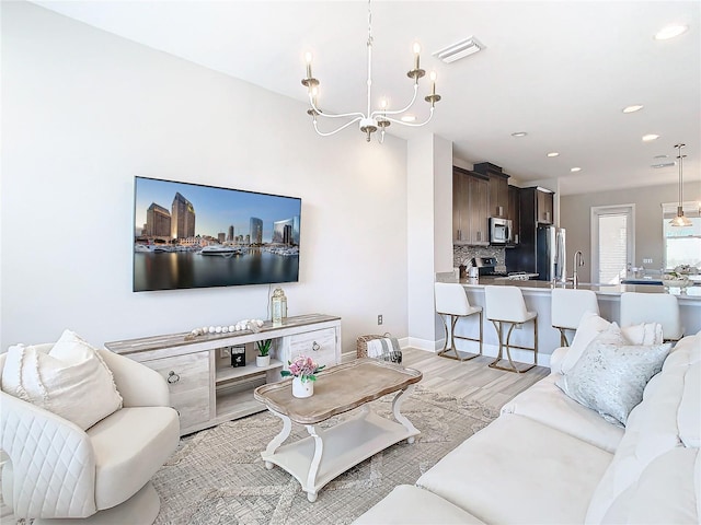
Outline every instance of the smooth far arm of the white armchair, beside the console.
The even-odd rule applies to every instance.
[[[154,370],[106,349],[97,349],[112,371],[125,407],[169,407],[168,382]]]

